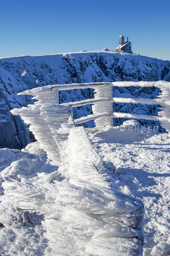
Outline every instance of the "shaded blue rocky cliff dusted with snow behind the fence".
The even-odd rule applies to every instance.
[[[32,103],[29,96],[18,92],[48,84],[70,84],[113,81],[170,81],[170,61],[117,52],[85,52],[48,56],[24,56],[0,59],[0,147],[24,148],[30,133],[19,116],[10,109]],[[154,98],[154,88],[114,88],[114,97]],[[60,92],[61,102],[92,98],[91,89]],[[90,105],[73,109],[74,117],[90,114]],[[156,106],[142,104],[114,104],[114,111],[155,115]],[[124,120],[115,119],[115,124]],[[143,122],[143,121],[142,121]],[[150,122],[150,121],[147,121]],[[90,121],[86,126],[92,126]]]

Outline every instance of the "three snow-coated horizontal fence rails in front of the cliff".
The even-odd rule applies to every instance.
[[[93,88],[95,90],[94,99],[87,99],[69,103],[62,103],[61,105],[69,105],[70,107],[80,107],[87,104],[93,104],[92,107],[93,114],[85,117],[80,117],[75,119],[75,124],[82,124],[90,120],[98,119],[98,122],[95,122],[96,125],[112,125],[112,118],[137,118],[137,119],[146,119],[146,120],[155,120],[160,121],[162,126],[169,131],[170,119],[165,115],[163,111],[159,112],[159,116],[150,116],[150,115],[139,115],[132,113],[119,113],[114,112],[113,108],[110,106],[113,102],[120,103],[133,103],[133,104],[159,104],[163,105],[164,108],[169,108],[168,102],[164,97],[159,96],[156,99],[145,99],[145,98],[116,98],[113,97],[112,86],[142,86],[142,87],[158,87],[162,92],[165,92],[170,88],[170,83],[165,81],[158,82],[113,82],[113,83],[88,83],[88,84],[69,84],[69,85],[56,85],[52,86],[50,90],[70,90],[70,89],[84,89],[84,88]],[[108,90],[110,88],[110,90]],[[105,91],[106,90],[106,91]],[[169,90],[167,90],[169,92]],[[161,94],[162,95],[162,94]],[[100,98],[100,96],[103,96]],[[109,112],[107,111],[109,108]],[[170,109],[170,108],[169,108]],[[100,122],[100,119],[106,119],[106,122]],[[166,126],[166,127],[165,127]]]

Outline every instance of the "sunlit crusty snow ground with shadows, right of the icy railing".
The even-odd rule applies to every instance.
[[[169,184],[170,138],[152,132],[86,129],[93,146],[115,165],[114,179],[124,193],[141,198],[145,206],[143,256],[170,255]],[[125,186],[125,187],[124,187]]]

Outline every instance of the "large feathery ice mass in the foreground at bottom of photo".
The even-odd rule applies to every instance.
[[[50,255],[142,255],[143,206],[131,196],[78,178],[3,187],[16,207],[45,216]]]

